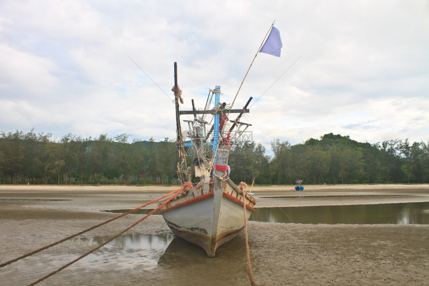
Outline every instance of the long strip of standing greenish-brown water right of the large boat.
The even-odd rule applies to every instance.
[[[251,221],[301,224],[429,224],[429,202],[256,208]]]

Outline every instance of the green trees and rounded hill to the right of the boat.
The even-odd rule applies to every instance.
[[[294,184],[296,179],[305,184],[429,181],[429,142],[411,144],[408,139],[396,139],[370,144],[329,133],[293,146],[275,139],[271,141],[272,156],[265,155],[260,144],[243,143],[241,148],[252,151],[231,155],[230,177],[235,181],[248,182],[250,176],[257,184]],[[233,168],[238,172],[232,172]]]

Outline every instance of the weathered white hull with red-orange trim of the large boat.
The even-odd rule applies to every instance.
[[[244,228],[254,212],[255,199],[246,194],[244,217],[243,195],[229,179],[223,188],[213,190],[213,182],[190,187],[176,196],[160,213],[179,237],[202,247],[209,257]]]

